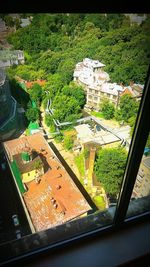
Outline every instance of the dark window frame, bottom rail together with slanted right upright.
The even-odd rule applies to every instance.
[[[41,245],[40,247],[35,246],[35,248],[28,252],[25,252],[24,254],[21,254],[19,256],[12,255],[8,260],[5,260],[4,262],[0,262],[0,265],[8,264],[9,262],[15,262],[17,263],[20,259],[33,257],[35,255],[43,254],[46,251],[51,251],[54,248],[60,248],[65,245],[69,245],[70,243],[75,243],[76,241],[81,241],[84,238],[90,237],[92,238],[95,235],[105,235],[106,232],[114,232],[118,230],[120,227],[124,227],[124,225],[129,224],[130,222],[137,221],[137,220],[143,220],[145,217],[150,217],[150,211],[144,212],[141,215],[133,216],[128,219],[126,219],[126,213],[129,206],[129,202],[132,195],[132,190],[134,187],[134,183],[137,177],[139,165],[141,162],[141,158],[143,155],[143,151],[145,148],[145,144],[147,141],[147,137],[149,135],[149,107],[150,107],[150,68],[148,69],[148,75],[145,82],[144,90],[142,99],[140,102],[139,111],[137,114],[137,119],[134,127],[134,132],[132,136],[132,141],[128,153],[127,158],[127,165],[124,173],[124,178],[122,182],[122,187],[120,190],[116,210],[115,210],[115,216],[113,218],[112,224],[98,227],[94,230],[88,230],[87,232],[83,233],[76,233],[74,236],[67,237],[66,239],[59,240],[58,242],[52,242],[51,244],[47,243],[47,245]],[[95,216],[95,215],[93,215]],[[81,219],[83,220],[83,219]],[[58,226],[59,229],[61,229],[61,226]],[[55,229],[53,230],[55,231]],[[43,231],[44,233],[44,231]],[[23,240],[30,240],[32,236],[36,234],[33,234],[31,236],[25,236],[24,238],[20,240],[15,240],[14,242],[16,244],[23,244]],[[38,236],[38,234],[37,234]],[[40,234],[39,234],[40,236]],[[46,240],[47,241],[47,240]],[[8,249],[11,248],[11,245],[13,242],[8,243]],[[41,243],[42,244],[42,243]],[[4,251],[4,249],[7,247],[7,244],[3,244],[0,246],[0,252]]]

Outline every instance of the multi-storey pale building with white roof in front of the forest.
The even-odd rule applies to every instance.
[[[102,99],[107,98],[118,105],[120,93],[124,88],[116,83],[109,83],[109,74],[103,70],[105,65],[98,60],[85,58],[79,62],[74,71],[74,81],[81,84],[86,91],[86,108],[99,110]]]

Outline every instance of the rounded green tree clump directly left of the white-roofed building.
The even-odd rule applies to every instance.
[[[55,75],[55,74],[54,74]],[[53,76],[54,76],[53,75]],[[81,117],[81,109],[85,104],[85,93],[80,86],[73,82],[70,85],[65,85],[63,88],[61,82],[56,83],[56,87],[48,83],[44,88],[46,97],[44,99],[44,106],[47,105],[47,100],[51,99],[51,108],[53,109],[53,118],[60,122],[73,122]],[[47,115],[49,117],[50,115]],[[52,123],[51,119],[46,119],[48,124]]]

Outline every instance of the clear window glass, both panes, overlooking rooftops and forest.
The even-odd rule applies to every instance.
[[[112,225],[149,23],[148,14],[0,14],[0,261]],[[145,151],[133,201],[149,194]]]

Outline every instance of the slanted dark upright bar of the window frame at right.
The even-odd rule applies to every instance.
[[[127,158],[127,165],[122,181],[122,187],[117,201],[116,213],[113,221],[115,225],[122,224],[126,220],[126,214],[130,203],[132,191],[134,188],[144,148],[150,131],[149,107],[150,67],[148,69],[143,95],[136,118],[132,141]]]

